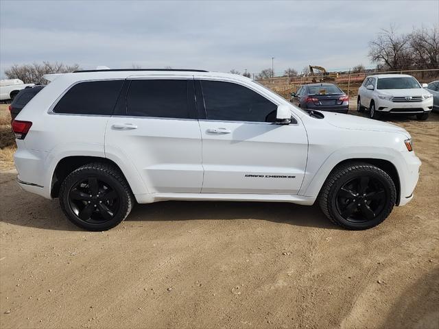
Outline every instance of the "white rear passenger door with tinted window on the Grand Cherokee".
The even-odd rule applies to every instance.
[[[133,78],[125,89],[106,127],[106,154],[132,162],[149,193],[200,193],[193,77]]]

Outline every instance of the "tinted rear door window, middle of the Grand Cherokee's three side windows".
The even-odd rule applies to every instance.
[[[187,80],[132,80],[127,114],[137,117],[188,119]]]

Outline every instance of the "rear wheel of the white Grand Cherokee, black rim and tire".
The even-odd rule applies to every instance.
[[[89,231],[114,228],[134,205],[134,196],[121,172],[100,162],[84,164],[71,172],[60,186],[59,198],[67,218]]]

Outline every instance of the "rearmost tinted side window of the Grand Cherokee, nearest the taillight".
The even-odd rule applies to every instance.
[[[55,113],[111,115],[123,80],[80,82],[58,101]]]

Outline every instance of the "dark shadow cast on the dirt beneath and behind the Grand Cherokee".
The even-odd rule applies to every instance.
[[[21,191],[15,172],[0,172],[0,222],[44,230],[79,231],[64,217],[58,199],[48,200]],[[280,202],[167,201],[136,204],[126,221],[257,219],[292,226],[340,229],[323,215],[318,206]]]

